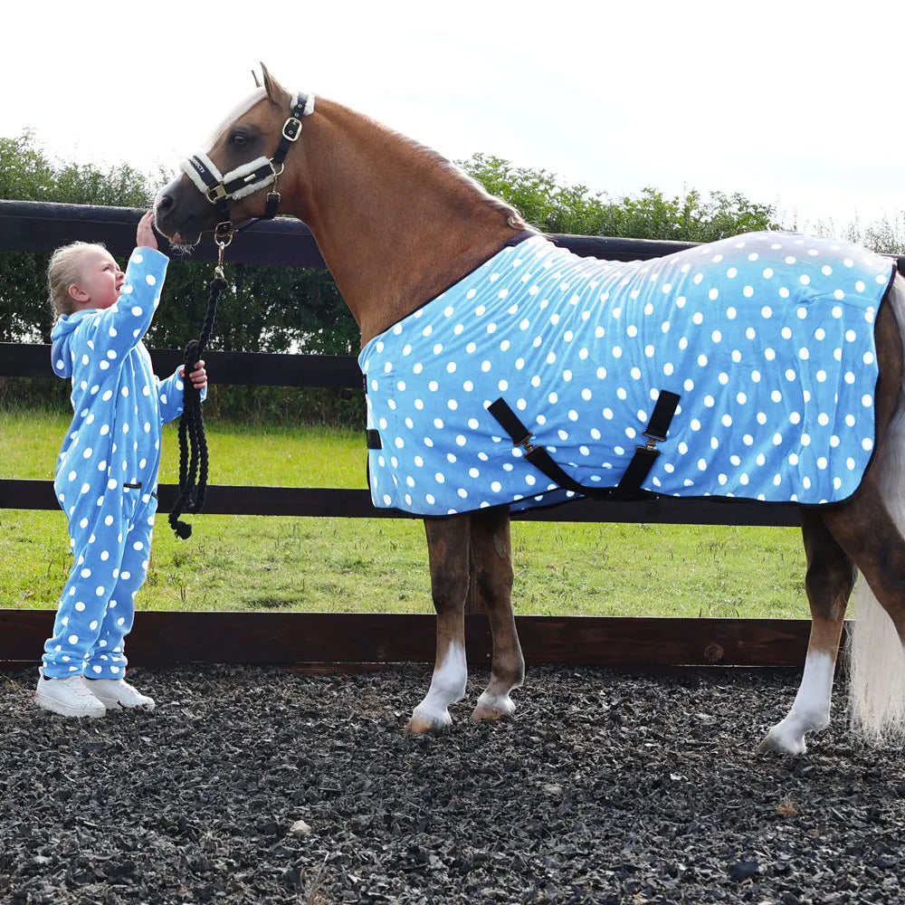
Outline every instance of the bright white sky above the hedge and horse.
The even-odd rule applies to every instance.
[[[7,5],[0,136],[175,169],[263,60],[462,159],[612,196],[740,192],[786,225],[905,212],[900,4],[446,0]]]

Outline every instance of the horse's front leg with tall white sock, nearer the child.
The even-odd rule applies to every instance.
[[[465,598],[469,586],[471,519],[424,519],[437,611],[437,655],[430,690],[405,726],[412,735],[439,732],[452,722],[449,705],[465,696]]]

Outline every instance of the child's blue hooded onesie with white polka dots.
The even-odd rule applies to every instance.
[[[75,563],[44,645],[49,679],[121,679],[126,670],[123,639],[148,571],[157,510],[160,427],[182,412],[181,379],[159,381],[141,341],[167,262],[137,248],[116,304],[63,315],[52,330],[53,371],[72,380],[75,414],[53,488]]]

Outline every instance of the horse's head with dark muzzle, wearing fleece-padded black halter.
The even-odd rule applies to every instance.
[[[194,245],[218,224],[276,213],[277,181],[283,167],[292,165],[284,158],[300,137],[301,117],[314,109],[314,98],[293,96],[263,64],[262,71],[263,85],[214,129],[207,150],[183,160],[182,174],[158,193],[157,229],[174,244]],[[299,154],[296,149],[291,157]],[[270,192],[261,191],[267,186]]]

